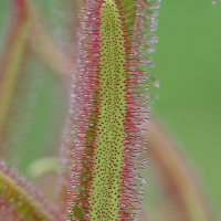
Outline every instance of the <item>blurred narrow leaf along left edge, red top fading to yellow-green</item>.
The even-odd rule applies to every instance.
[[[29,31],[25,0],[14,0],[13,3],[13,24],[0,70],[0,137],[4,133],[6,120],[11,110]]]

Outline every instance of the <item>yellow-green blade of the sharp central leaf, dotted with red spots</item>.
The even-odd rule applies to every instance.
[[[101,9],[101,101],[99,116],[93,156],[91,183],[91,219],[115,220],[119,218],[122,167],[124,159],[126,85],[125,49],[122,22],[113,0],[107,0]]]

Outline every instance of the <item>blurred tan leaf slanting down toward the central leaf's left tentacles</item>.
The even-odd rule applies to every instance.
[[[43,23],[36,8],[31,2],[28,6],[31,23],[28,38],[31,49],[50,65],[53,73],[57,74],[62,81],[70,81],[71,77],[66,73],[76,69],[76,59],[73,59],[66,52],[64,53],[62,46],[49,33],[48,27]]]

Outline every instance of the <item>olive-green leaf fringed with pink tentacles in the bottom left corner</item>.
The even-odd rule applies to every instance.
[[[60,221],[63,219],[55,204],[3,160],[0,160],[0,198],[8,201],[8,204],[13,207],[17,214],[24,221]],[[11,215],[13,217],[13,213]]]

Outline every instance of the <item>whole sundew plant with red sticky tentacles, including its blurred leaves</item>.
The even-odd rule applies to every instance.
[[[155,120],[149,120],[150,104],[158,97],[155,88],[159,87],[149,71],[155,65],[149,53],[158,41],[154,31],[160,2],[70,2],[74,34],[65,50],[46,31],[32,1],[11,1],[13,18],[0,72],[0,220],[150,220],[143,208],[143,196],[151,178],[141,172],[149,155],[167,175],[167,191],[176,193],[179,220],[211,220],[187,162]],[[53,197],[27,181],[8,162],[8,148],[15,148],[11,141],[17,137],[14,124],[29,127],[30,106],[34,106],[33,85],[38,87],[38,81],[29,78],[23,70],[28,52],[42,57],[65,85],[69,97]],[[167,158],[159,137],[164,138]],[[147,139],[152,146],[149,155]],[[176,169],[170,167],[171,161],[177,164]],[[41,162],[36,170],[56,170],[54,162]],[[179,186],[176,177],[185,186]],[[50,187],[50,182],[44,186]]]

